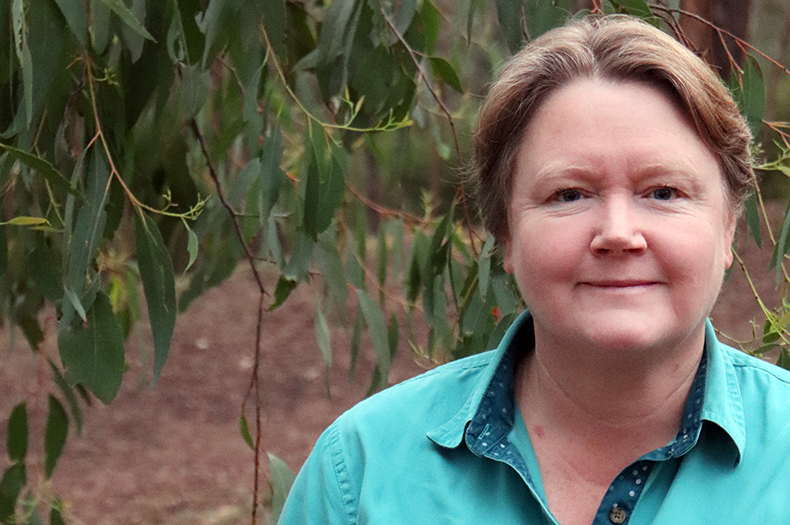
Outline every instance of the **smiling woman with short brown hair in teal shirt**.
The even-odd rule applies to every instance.
[[[527,46],[475,161],[529,312],[497,350],[341,416],[281,523],[790,523],[790,374],[707,321],[749,141],[705,64],[647,24]]]

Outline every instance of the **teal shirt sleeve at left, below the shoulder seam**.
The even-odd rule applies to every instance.
[[[340,445],[340,429],[336,421],[318,439],[296,476],[278,525],[356,523],[356,498],[350,490],[350,465]]]

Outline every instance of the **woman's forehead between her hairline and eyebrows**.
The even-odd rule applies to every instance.
[[[584,79],[549,95],[527,125],[517,174],[562,167],[715,172],[718,159],[664,90],[642,82]]]

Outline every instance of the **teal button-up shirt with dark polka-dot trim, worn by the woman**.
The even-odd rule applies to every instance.
[[[595,524],[790,523],[790,373],[718,342],[678,434],[613,480]],[[333,423],[294,482],[280,525],[556,524],[513,400],[533,346],[522,315],[499,348],[440,366]]]

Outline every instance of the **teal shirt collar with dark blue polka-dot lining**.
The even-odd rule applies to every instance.
[[[514,421],[514,367],[517,358],[534,347],[532,316],[524,312],[508,329],[477,386],[461,410],[428,438],[445,448],[464,441],[469,449],[484,455],[507,438]],[[732,465],[743,456],[746,443],[743,403],[732,361],[716,339],[710,321],[705,327],[707,370],[704,378],[702,420],[714,423],[724,432],[725,449],[731,452]],[[716,439],[711,437],[711,439]]]

